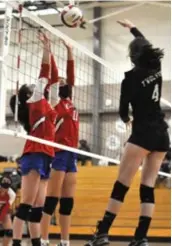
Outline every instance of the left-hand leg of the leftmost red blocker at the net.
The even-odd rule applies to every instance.
[[[34,204],[39,189],[40,175],[31,170],[22,177],[21,203],[13,222],[13,246],[20,246],[24,221],[28,219],[29,210]]]

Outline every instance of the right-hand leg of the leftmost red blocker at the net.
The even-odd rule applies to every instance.
[[[47,193],[47,180],[41,180],[36,200],[34,201],[33,207],[29,213],[29,232],[33,246],[39,246],[41,244],[41,228],[40,222],[42,218],[42,210],[45,203],[45,197]]]

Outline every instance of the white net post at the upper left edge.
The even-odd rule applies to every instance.
[[[8,55],[12,22],[12,7],[6,4],[4,31],[0,35],[0,128],[6,124],[6,94],[7,94],[7,66],[5,58]]]

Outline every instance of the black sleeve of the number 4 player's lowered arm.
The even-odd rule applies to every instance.
[[[127,123],[130,118],[129,113],[129,103],[130,103],[130,90],[129,82],[124,79],[121,85],[121,94],[120,94],[120,105],[119,105],[119,115],[123,122]]]

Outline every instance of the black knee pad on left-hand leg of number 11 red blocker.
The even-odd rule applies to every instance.
[[[53,215],[56,209],[56,206],[58,204],[58,200],[59,199],[57,197],[47,196],[45,199],[43,212],[49,215]]]

